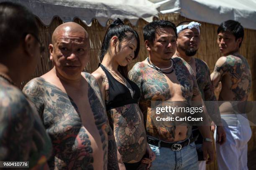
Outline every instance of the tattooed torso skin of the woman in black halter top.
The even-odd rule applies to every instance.
[[[109,100],[109,84],[105,73],[102,73],[102,82],[105,83],[105,103]],[[131,95],[133,90],[125,80]],[[137,103],[123,105],[107,111],[110,126],[115,135],[115,142],[124,163],[141,161],[146,154],[147,139],[143,126],[143,115]]]

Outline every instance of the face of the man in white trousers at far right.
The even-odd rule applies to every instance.
[[[219,45],[220,52],[224,56],[238,52],[239,44],[241,42],[242,42],[241,37],[236,40],[236,37],[230,32],[220,32],[218,34],[217,43]]]

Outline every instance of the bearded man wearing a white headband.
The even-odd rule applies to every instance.
[[[210,70],[207,64],[198,58],[193,57],[200,45],[200,23],[184,21],[177,26],[177,49],[175,57],[182,57],[193,69],[194,75],[197,80],[197,85],[202,95],[202,99],[205,101],[216,101],[214,90],[210,78]],[[207,105],[207,112],[212,120],[217,125],[218,142],[223,144],[225,142],[225,131],[221,125],[220,111],[217,102],[212,102]],[[213,128],[214,127],[214,128]],[[215,126],[212,126],[214,132]],[[198,128],[193,126],[193,137],[197,138],[195,141],[199,170],[205,170],[206,161],[202,158],[202,143],[203,138]]]

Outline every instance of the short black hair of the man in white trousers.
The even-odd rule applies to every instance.
[[[218,32],[218,34],[220,32],[230,32],[231,34],[233,34],[236,37],[236,40],[238,38],[242,38],[242,41],[243,41],[243,36],[244,36],[243,26],[241,25],[241,23],[238,23],[237,21],[227,20],[227,21],[221,23],[217,32]],[[241,47],[242,41],[239,44],[239,47]]]

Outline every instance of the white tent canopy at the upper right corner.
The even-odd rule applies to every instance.
[[[219,25],[236,20],[244,28],[256,30],[256,0],[150,0],[161,5],[161,13],[180,13],[182,16]]]

